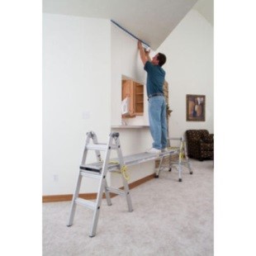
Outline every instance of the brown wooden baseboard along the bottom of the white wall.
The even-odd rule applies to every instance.
[[[129,188],[132,189],[134,187],[138,187],[143,183],[148,182],[149,180],[153,179],[155,176],[154,174],[150,174],[149,176],[146,176],[145,178],[140,178],[139,180],[135,181],[134,183],[129,184]],[[123,187],[120,187],[121,189]],[[111,197],[116,197],[116,194],[110,193]],[[53,195],[53,196],[43,196],[43,202],[55,202],[55,201],[71,201],[73,195],[67,194],[67,195]],[[79,197],[82,197],[83,199],[92,200],[96,199],[97,193],[83,193],[79,194]],[[103,198],[105,198],[105,195],[103,195]]]

